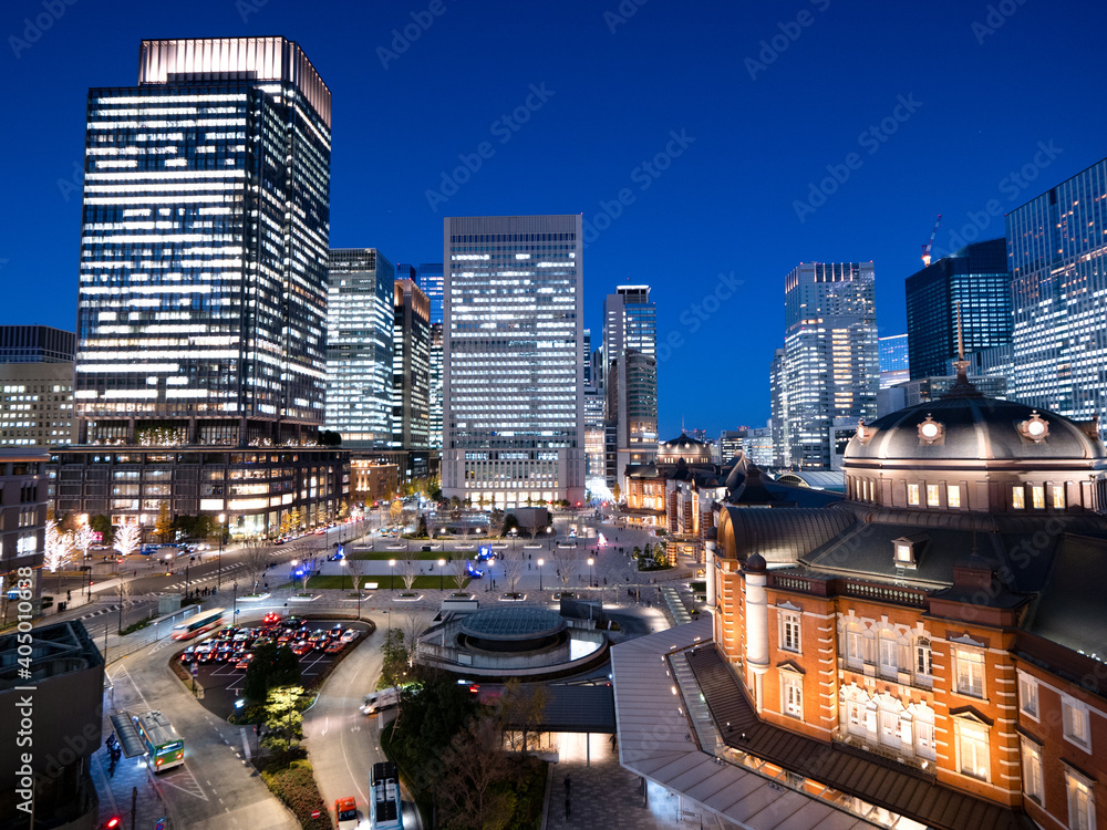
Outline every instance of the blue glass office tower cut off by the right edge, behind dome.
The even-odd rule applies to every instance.
[[[1008,395],[1072,418],[1107,409],[1107,159],[1007,214]]]

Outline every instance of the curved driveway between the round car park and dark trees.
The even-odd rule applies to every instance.
[[[334,801],[352,796],[369,827],[369,775],[373,764],[385,760],[380,732],[385,718],[394,713],[365,717],[358,710],[362,697],[376,686],[383,662],[381,643],[385,619],[375,621],[377,630],[368,640],[358,641],[354,651],[334,670],[315,704],[304,713],[303,734],[315,781],[323,800],[333,810]],[[260,827],[260,826],[259,826]],[[404,827],[422,827],[418,811],[410,799],[404,801]]]

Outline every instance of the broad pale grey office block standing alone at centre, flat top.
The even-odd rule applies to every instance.
[[[447,217],[446,497],[584,498],[581,217]]]

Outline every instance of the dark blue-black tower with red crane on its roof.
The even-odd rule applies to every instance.
[[[958,309],[965,352],[1011,342],[1011,273],[1004,239],[969,245],[907,278],[911,380],[945,374],[958,356]]]

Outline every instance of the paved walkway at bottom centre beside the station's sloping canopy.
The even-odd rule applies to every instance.
[[[696,806],[682,801],[663,787],[648,784],[643,799],[641,779],[619,766],[611,738],[593,735],[591,740],[591,764],[583,757],[583,739],[579,751],[565,751],[563,760],[554,767],[550,784],[547,830],[578,830],[579,828],[602,827],[604,830],[670,830],[681,828],[711,828],[711,830],[737,830],[735,824],[721,820],[714,813],[701,816]],[[566,817],[565,777],[571,778],[570,809]],[[645,801],[649,803],[646,805]],[[689,812],[683,820],[681,809]]]

